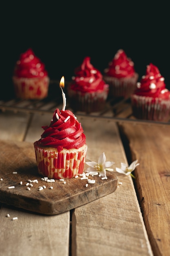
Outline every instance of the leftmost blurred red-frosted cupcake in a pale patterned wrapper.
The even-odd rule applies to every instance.
[[[35,56],[32,49],[20,55],[12,79],[17,98],[44,99],[48,96],[48,73],[44,63]]]

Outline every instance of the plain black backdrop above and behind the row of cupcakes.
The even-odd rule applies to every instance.
[[[165,4],[149,1],[11,2],[1,6],[2,83],[11,90],[13,67],[29,47],[51,79],[71,80],[85,56],[102,73],[118,49],[135,63],[139,79],[153,63],[170,88],[170,19]],[[3,93],[2,95],[5,95]]]

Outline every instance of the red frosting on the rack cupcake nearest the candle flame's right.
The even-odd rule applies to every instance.
[[[102,74],[90,63],[91,58],[85,57],[82,65],[75,69],[75,76],[72,77],[71,89],[82,93],[104,90],[105,82]]]

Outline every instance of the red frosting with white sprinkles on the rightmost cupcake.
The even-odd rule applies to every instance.
[[[159,69],[150,63],[150,65],[147,65],[145,76],[142,76],[141,81],[137,83],[137,89],[134,94],[166,99],[170,97],[170,92],[166,89],[164,80]]]

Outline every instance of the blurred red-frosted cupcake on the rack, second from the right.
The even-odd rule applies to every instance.
[[[126,56],[124,50],[119,49],[104,70],[103,79],[109,85],[109,97],[129,98],[136,89],[138,77],[132,60]]]

